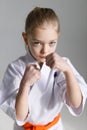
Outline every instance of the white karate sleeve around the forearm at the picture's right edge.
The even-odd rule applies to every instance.
[[[83,96],[83,101],[82,101],[82,104],[80,105],[79,108],[72,108],[68,104],[66,104],[69,111],[74,116],[77,116],[77,115],[80,115],[84,110],[84,106],[85,106],[85,102],[86,102],[86,98],[87,98],[87,84],[86,84],[85,80],[83,79],[83,77],[77,72],[77,70],[71,64],[69,59],[67,60],[67,62],[71,66],[71,68],[72,68],[72,70],[73,70],[73,72],[74,72],[74,74],[76,76],[76,79],[77,79],[77,81],[79,83],[79,86],[80,86],[80,89],[81,89],[81,92],[82,92],[82,96]]]

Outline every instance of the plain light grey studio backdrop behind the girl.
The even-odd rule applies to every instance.
[[[7,65],[25,54],[21,33],[35,6],[56,11],[61,23],[57,52],[70,58],[87,81],[87,0],[0,0],[0,82]],[[80,117],[73,117],[65,107],[61,114],[65,130],[87,130],[87,104]],[[5,129],[20,130],[0,110],[0,130]]]

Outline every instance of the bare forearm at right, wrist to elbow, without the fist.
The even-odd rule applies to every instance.
[[[80,86],[74,76],[72,70],[65,72],[66,84],[67,84],[67,98],[73,107],[79,107],[82,102],[82,94]]]

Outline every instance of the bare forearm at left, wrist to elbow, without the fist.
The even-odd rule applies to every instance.
[[[28,94],[29,94],[29,87],[24,86],[20,87],[18,95],[16,97],[16,103],[15,103],[16,118],[20,121],[25,120],[25,118],[29,113]]]

